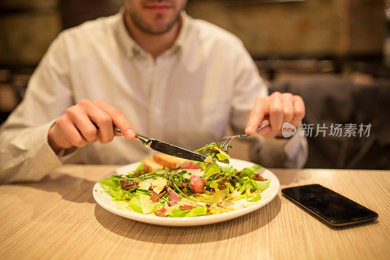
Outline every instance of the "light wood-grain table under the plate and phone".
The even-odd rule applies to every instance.
[[[278,196],[240,218],[195,227],[140,223],[101,208],[92,188],[117,166],[65,165],[0,186],[0,259],[390,259],[390,172],[273,169],[281,188],[320,183],[379,214],[332,229]]]

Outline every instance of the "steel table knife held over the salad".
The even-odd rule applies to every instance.
[[[114,131],[118,134],[122,134],[117,127],[115,127]],[[166,142],[159,141],[159,140],[156,140],[153,138],[149,138],[149,137],[143,136],[141,134],[138,134],[137,132],[135,132],[135,133],[136,133],[136,138],[138,140],[140,140],[146,147],[152,148],[153,150],[155,150],[157,152],[167,154],[167,155],[172,155],[172,156],[182,158],[182,159],[195,160],[195,161],[201,161],[201,162],[204,162],[204,160],[206,160],[206,158],[207,158],[204,155],[194,153],[190,150],[172,145],[170,143],[166,143]],[[214,159],[211,159],[211,160],[212,160],[212,162],[215,162]]]

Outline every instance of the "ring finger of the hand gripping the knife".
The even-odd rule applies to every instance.
[[[84,109],[80,106],[71,106],[66,110],[66,113],[88,143],[97,140],[98,130],[93,125]]]

